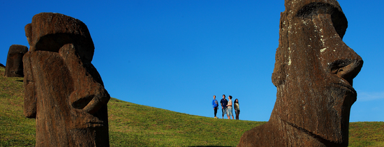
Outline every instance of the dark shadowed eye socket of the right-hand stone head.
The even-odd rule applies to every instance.
[[[334,29],[342,39],[346,33],[348,21],[341,8],[332,6],[330,3],[309,3],[297,11],[296,17],[301,17],[302,19],[312,19],[314,16],[319,14],[331,15]]]

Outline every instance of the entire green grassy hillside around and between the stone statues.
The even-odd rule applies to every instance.
[[[0,146],[34,146],[35,120],[22,114],[22,78],[0,68]],[[112,98],[111,146],[236,146],[241,135],[265,122],[182,114]],[[383,122],[350,123],[350,146],[384,146]]]

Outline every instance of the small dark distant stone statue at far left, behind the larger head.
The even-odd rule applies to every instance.
[[[24,77],[22,68],[22,56],[28,52],[28,47],[24,45],[10,45],[7,56],[6,77]]]

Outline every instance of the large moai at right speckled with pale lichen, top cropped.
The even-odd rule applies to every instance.
[[[348,146],[353,78],[362,59],[341,39],[347,28],[335,0],[286,0],[272,83],[269,121],[238,146]]]

